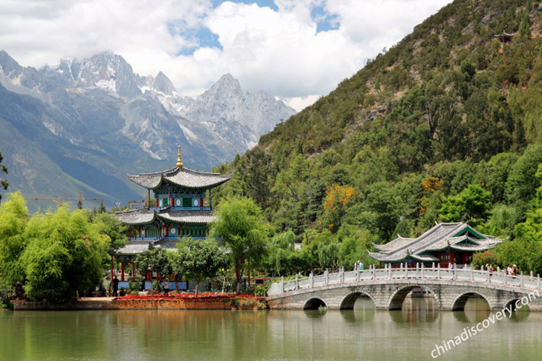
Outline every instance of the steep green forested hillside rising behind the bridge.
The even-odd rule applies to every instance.
[[[435,221],[510,237],[495,263],[540,255],[541,18],[531,1],[454,1],[218,169],[235,173],[217,196],[263,207],[278,234],[268,262],[283,274],[351,268],[371,243]],[[513,262],[542,270],[535,258]]]

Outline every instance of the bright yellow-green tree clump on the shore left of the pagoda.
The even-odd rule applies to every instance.
[[[30,216],[20,192],[8,194],[0,205],[0,279],[22,283],[31,300],[61,302],[94,290],[112,247],[108,221],[67,205]]]

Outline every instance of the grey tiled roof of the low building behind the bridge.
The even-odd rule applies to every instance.
[[[380,252],[369,252],[378,261],[402,261],[406,257],[421,261],[433,261],[436,257],[424,252],[445,250],[448,247],[463,251],[483,251],[495,247],[502,240],[477,232],[466,223],[441,223],[418,238],[399,236],[385,245],[374,245]]]

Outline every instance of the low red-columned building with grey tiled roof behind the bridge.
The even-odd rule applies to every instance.
[[[371,258],[383,264],[391,264],[391,267],[399,267],[400,264],[408,264],[414,267],[416,263],[430,267],[448,268],[450,264],[456,264],[462,268],[469,265],[474,252],[489,250],[502,240],[490,235],[484,235],[469,224],[441,223],[423,233],[418,238],[398,238],[385,245],[374,245],[380,252],[369,252]]]

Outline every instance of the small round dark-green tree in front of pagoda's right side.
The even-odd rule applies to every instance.
[[[217,276],[219,269],[226,264],[226,255],[212,238],[184,238],[176,246],[179,257],[176,258],[174,271],[181,272],[186,279],[195,279],[194,295],[197,297],[198,283]]]

